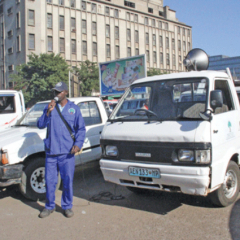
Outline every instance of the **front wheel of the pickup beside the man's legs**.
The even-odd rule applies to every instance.
[[[61,177],[59,174],[56,190],[59,189],[60,183]],[[20,191],[24,197],[33,201],[45,199],[45,158],[35,158],[24,167]]]

